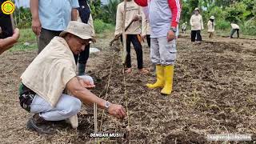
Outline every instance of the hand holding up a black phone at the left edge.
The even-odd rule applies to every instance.
[[[18,42],[19,30],[16,28],[12,37],[0,39],[0,54],[10,49],[14,43]]]

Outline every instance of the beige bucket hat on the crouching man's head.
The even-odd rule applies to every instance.
[[[91,30],[90,25],[82,22],[71,21],[67,26],[66,30],[62,31],[59,36],[64,36],[65,34],[70,33],[82,39],[91,39],[93,31]]]

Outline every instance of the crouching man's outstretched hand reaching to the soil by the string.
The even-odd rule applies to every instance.
[[[108,113],[118,119],[126,117],[126,110],[121,105],[111,104],[108,108]]]

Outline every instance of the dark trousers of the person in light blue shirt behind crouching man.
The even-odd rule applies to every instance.
[[[51,39],[61,34],[61,32],[42,28],[38,39],[38,54],[50,43]]]

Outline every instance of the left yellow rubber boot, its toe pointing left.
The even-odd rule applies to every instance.
[[[146,84],[146,86],[150,89],[154,89],[154,88],[162,88],[165,85],[165,81],[164,81],[164,70],[163,70],[164,66],[161,65],[157,65],[156,66],[156,75],[157,75],[157,82],[155,82],[154,84]]]

